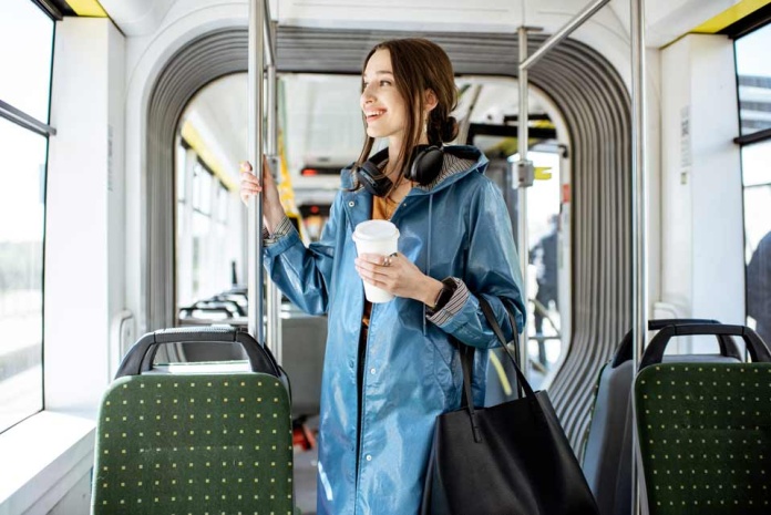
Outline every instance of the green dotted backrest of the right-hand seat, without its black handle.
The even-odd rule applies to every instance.
[[[650,515],[771,513],[771,363],[661,363],[635,380]]]

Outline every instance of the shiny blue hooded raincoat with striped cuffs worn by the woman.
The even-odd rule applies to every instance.
[[[498,187],[483,173],[487,158],[471,146],[445,147],[442,174],[414,187],[391,217],[399,251],[424,274],[464,281],[471,291],[460,311],[436,326],[417,300],[372,307],[364,354],[362,413],[357,406],[359,334],[364,308],[351,235],[370,219],[372,196],[342,171],[341,190],[321,238],[306,248],[294,229],[266,247],[265,264],[300,309],[328,313],[321,387],[318,513],[418,513],[436,415],[461,403],[462,373],[449,334],[483,349],[475,353],[473,396],[482,405],[487,349],[497,340],[480,309],[490,301],[511,334],[502,300],[522,327],[518,258]],[[360,419],[359,419],[360,416]],[[358,446],[358,452],[357,452]],[[357,461],[357,456],[359,460]],[[483,473],[480,471],[480,473]]]

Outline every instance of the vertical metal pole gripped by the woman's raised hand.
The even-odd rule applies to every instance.
[[[264,30],[266,0],[249,0],[249,54],[248,68],[248,128],[249,162],[255,174],[263,183],[263,78],[264,70]],[[255,195],[249,200],[247,224],[248,251],[248,319],[249,333],[257,341],[265,342],[263,315],[263,196]]]

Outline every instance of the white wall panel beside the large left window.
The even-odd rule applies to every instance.
[[[45,243],[45,406],[93,411],[123,309],[123,37],[106,19],[56,28]]]

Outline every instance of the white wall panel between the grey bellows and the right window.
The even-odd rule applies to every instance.
[[[741,168],[732,42],[690,34],[662,52],[661,301],[743,323]]]

